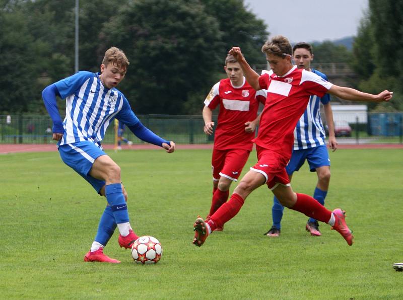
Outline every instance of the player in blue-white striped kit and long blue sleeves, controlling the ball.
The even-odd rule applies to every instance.
[[[54,140],[62,161],[104,195],[107,206],[98,231],[84,261],[119,263],[103,253],[116,226],[118,244],[131,248],[138,236],[133,232],[127,212],[127,193],[121,184],[120,167],[103,151],[101,141],[113,119],[123,121],[140,139],[159,145],[172,153],[175,143],[162,139],[146,128],[124,95],[116,89],[123,80],[129,61],[122,50],[111,47],[105,52],[98,73],[79,71],[46,87],[42,98],[53,121]],[[56,96],[66,98],[66,117],[61,121]]]

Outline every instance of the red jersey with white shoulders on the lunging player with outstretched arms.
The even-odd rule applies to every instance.
[[[313,72],[294,66],[282,77],[273,72],[262,74],[259,85],[267,89],[267,99],[260,116],[258,134],[253,141],[289,160],[294,144],[294,128],[310,96],[322,97],[332,84]]]

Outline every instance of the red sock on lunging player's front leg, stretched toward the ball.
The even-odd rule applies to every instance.
[[[221,205],[221,207],[210,217],[208,223],[211,231],[213,232],[217,226],[223,227],[226,222],[238,213],[244,202],[245,200],[243,200],[241,196],[236,193],[232,194],[230,200]]]

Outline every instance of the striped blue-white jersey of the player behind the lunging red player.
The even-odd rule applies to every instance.
[[[311,70],[327,81],[325,74],[313,68]],[[327,104],[329,101],[329,94],[325,94],[322,98],[311,96],[304,114],[294,129],[294,150],[313,148],[326,144],[326,135],[320,118],[320,102]]]

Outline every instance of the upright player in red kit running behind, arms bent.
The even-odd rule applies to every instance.
[[[229,188],[237,181],[252,151],[255,129],[259,123],[259,102],[264,104],[266,90],[255,91],[243,76],[234,56],[225,59],[228,78],[220,80],[211,89],[203,108],[204,132],[213,134],[213,110],[219,107],[212,155],[213,199],[206,220],[227,201]],[[217,231],[223,230],[221,227]]]

